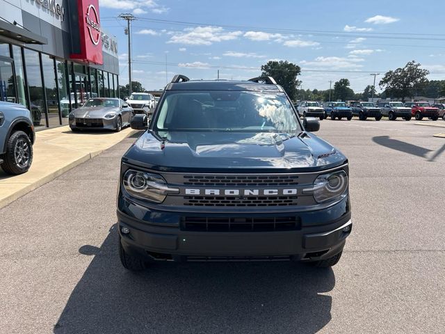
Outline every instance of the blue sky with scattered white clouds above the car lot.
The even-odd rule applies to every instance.
[[[438,0],[99,0],[102,29],[118,38],[120,84],[128,45],[118,18],[132,13],[133,81],[162,89],[175,74],[246,80],[261,65],[301,67],[303,89],[347,78],[361,92],[380,73],[417,61],[445,79],[445,3]],[[167,72],[167,76],[165,76]],[[301,88],[301,87],[300,87]]]

